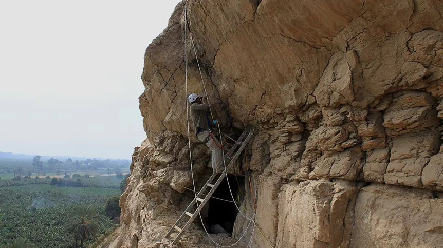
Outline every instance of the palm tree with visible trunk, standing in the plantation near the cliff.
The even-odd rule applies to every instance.
[[[99,225],[92,219],[97,216],[94,209],[89,207],[74,207],[74,218],[69,224],[68,231],[74,235],[76,247],[80,240],[80,247],[83,247],[83,242],[92,236],[95,236]]]

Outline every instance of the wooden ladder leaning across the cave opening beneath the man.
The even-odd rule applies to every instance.
[[[232,157],[231,162],[229,162],[229,164],[228,164],[228,166],[226,168],[229,168],[230,166],[233,166],[235,161],[242,154],[243,149],[245,149],[246,145],[251,140],[252,135],[253,135],[253,130],[251,130],[249,133],[247,131],[244,131],[242,133],[242,135],[238,138],[237,142],[235,142],[235,144],[229,150],[229,153],[233,154],[233,152],[238,147],[238,145],[240,145],[240,148],[238,148],[237,152]],[[170,228],[168,234],[166,234],[166,236],[163,238],[163,240],[164,239],[169,239],[169,237],[171,237],[171,235],[174,233],[174,231],[177,231],[178,234],[177,234],[177,236],[175,236],[174,240],[172,241],[172,244],[174,244],[175,242],[177,242],[180,239],[181,235],[183,235],[184,230],[186,230],[186,228],[189,225],[191,225],[191,223],[194,221],[194,219],[199,215],[201,209],[203,209],[203,207],[206,205],[206,203],[209,202],[209,199],[211,198],[212,194],[214,194],[215,189],[218,187],[218,185],[220,185],[220,183],[222,183],[223,179],[225,179],[225,177],[226,177],[226,170],[223,171],[223,173],[220,175],[220,177],[218,177],[218,179],[217,179],[217,181],[215,183],[212,183],[216,177],[217,177],[217,174],[215,174],[215,173],[212,174],[212,176],[208,179],[208,181],[205,183],[205,185],[203,185],[203,187],[200,189],[200,192],[198,192],[198,194],[196,195],[194,200],[192,200],[192,202],[188,205],[186,210],[180,215],[180,217],[178,217],[177,221]],[[206,192],[207,189],[209,189],[209,192],[206,194],[205,197],[202,198],[202,196],[204,195],[204,193]],[[194,207],[195,204],[197,204],[197,209],[194,212],[192,212],[192,208]],[[184,217],[187,217],[188,221],[186,222],[186,224],[184,224],[183,227],[180,228],[178,226],[179,222]],[[162,242],[160,244],[160,248],[164,248],[164,247],[165,246],[163,245],[163,242]]]

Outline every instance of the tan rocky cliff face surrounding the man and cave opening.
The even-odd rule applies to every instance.
[[[192,187],[183,12],[180,3],[146,50],[148,138],[133,155],[115,247],[158,247],[192,199],[181,187]],[[241,205],[252,216],[256,200],[263,235],[252,247],[443,247],[442,17],[441,0],[188,1],[216,118],[256,128],[246,156],[256,197]],[[187,46],[189,93],[203,93]],[[210,157],[192,142],[201,185]],[[238,215],[233,237],[214,239],[244,232],[235,247],[252,233]],[[215,247],[198,221],[177,246]]]

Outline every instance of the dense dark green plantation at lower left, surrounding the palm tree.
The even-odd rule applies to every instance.
[[[72,234],[66,228],[72,208],[80,205],[97,211],[98,237],[113,226],[103,208],[113,195],[120,195],[120,190],[47,184],[0,187],[0,246],[9,239],[23,237],[37,247],[73,247]]]

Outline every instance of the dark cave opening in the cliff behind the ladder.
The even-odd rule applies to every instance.
[[[232,202],[232,196],[229,191],[229,185],[231,186],[232,195],[234,199],[236,199],[237,205],[241,203],[240,198],[244,196],[244,182],[245,177],[228,175],[222,183],[215,189],[213,197],[209,200],[209,209],[208,209],[208,219],[207,223],[209,226],[209,233],[219,233],[216,225],[220,225],[224,228],[229,234],[232,235],[232,231],[234,228],[235,218],[237,217],[238,210],[235,207],[235,204]],[[243,194],[242,194],[243,192]],[[219,200],[219,199],[223,200]],[[227,200],[227,201],[224,201]]]

